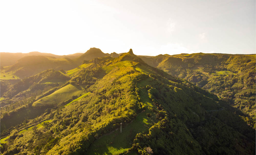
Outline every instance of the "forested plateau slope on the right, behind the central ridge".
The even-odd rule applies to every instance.
[[[194,53],[140,58],[216,94],[255,120],[255,54]],[[252,127],[255,129],[253,124]]]

